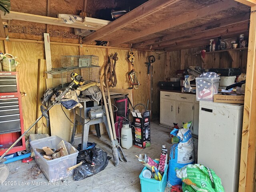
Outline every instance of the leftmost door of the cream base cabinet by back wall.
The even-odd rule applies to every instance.
[[[175,122],[175,100],[160,100],[160,123],[173,127]]]

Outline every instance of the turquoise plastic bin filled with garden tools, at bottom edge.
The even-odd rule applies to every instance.
[[[159,163],[159,162],[157,162],[157,163]],[[144,167],[142,172],[146,169],[147,168]],[[166,184],[167,184],[167,170],[168,170],[168,165],[166,166],[166,168],[164,170],[164,175],[163,175],[161,181],[144,178],[142,176],[142,172],[141,172],[140,176],[139,176],[141,192],[164,192],[164,190],[166,188]]]

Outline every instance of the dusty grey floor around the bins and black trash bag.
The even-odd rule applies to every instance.
[[[158,122],[151,122],[151,146],[140,149],[132,146],[129,150],[123,149],[128,162],[114,167],[113,159],[110,159],[105,170],[98,174],[75,181],[72,177],[55,182],[55,185],[48,184],[48,180],[40,172],[35,161],[22,163],[21,160],[7,164],[10,174],[7,178],[9,185],[1,186],[1,192],[20,192],[20,191],[50,191],[50,192],[140,192],[140,172],[144,168],[138,162],[135,155],[146,153],[151,158],[159,158],[162,145],[166,144],[168,154],[170,152],[170,129],[159,126]],[[112,156],[110,140],[108,135],[97,138],[96,135],[89,136],[89,142],[96,142],[97,146]],[[75,147],[81,142],[81,138],[75,139]],[[22,185],[27,184],[27,185]],[[166,190],[167,191],[167,190]]]

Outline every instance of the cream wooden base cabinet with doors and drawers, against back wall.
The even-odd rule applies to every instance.
[[[199,102],[196,95],[176,92],[160,92],[160,125],[173,127],[173,123],[182,126],[182,122],[192,120],[190,127],[198,135]]]

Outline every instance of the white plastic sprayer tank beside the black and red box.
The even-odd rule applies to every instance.
[[[121,129],[121,145],[123,148],[130,149],[132,146],[132,129],[130,122],[123,120],[123,127]]]

